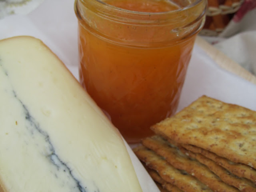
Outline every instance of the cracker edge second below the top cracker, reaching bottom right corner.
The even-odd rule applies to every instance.
[[[238,188],[242,192],[256,192],[256,186],[250,180],[245,178],[237,177],[234,174],[228,172],[222,166],[219,166],[214,161],[206,158],[202,154],[193,153],[184,148],[180,148],[184,153],[192,158],[196,158],[200,163],[206,165],[212,172],[218,175],[227,184]]]

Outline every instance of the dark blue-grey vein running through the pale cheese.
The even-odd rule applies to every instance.
[[[0,60],[0,67],[4,72],[6,79],[8,79],[8,72],[4,69],[2,62]],[[11,82],[9,82],[11,84]],[[13,87],[13,86],[10,86]],[[16,98],[16,100],[22,106],[24,110],[24,118],[28,124],[26,124],[26,129],[30,134],[32,140],[34,140],[35,146],[38,148],[38,152],[41,152],[42,156],[48,158],[49,162],[54,165],[55,171],[52,174],[55,175],[56,182],[60,182],[62,188],[70,188],[70,192],[86,192],[86,187],[82,186],[81,182],[74,177],[72,174],[72,170],[67,166],[67,164],[62,161],[54,150],[54,146],[50,140],[49,135],[40,128],[40,123],[36,122],[36,119],[30,114],[26,105],[18,98],[15,90],[11,88],[11,92]],[[38,144],[38,140],[44,140],[42,144]],[[46,149],[46,152],[42,152]],[[40,151],[41,150],[41,151]],[[99,192],[99,190],[95,190],[95,192]]]

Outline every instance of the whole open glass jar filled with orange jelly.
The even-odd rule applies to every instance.
[[[80,82],[128,143],[176,112],[207,0],[76,0]]]

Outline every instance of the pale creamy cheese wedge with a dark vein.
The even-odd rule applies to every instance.
[[[0,41],[0,192],[142,192],[118,130],[29,36]]]

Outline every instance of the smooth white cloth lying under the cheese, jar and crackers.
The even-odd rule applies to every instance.
[[[44,0],[27,15],[0,20],[0,39],[29,35],[41,39],[78,78],[77,20],[73,0]],[[178,110],[202,95],[256,110],[256,85],[220,68],[195,46]],[[159,192],[142,164],[127,145],[144,192]]]

